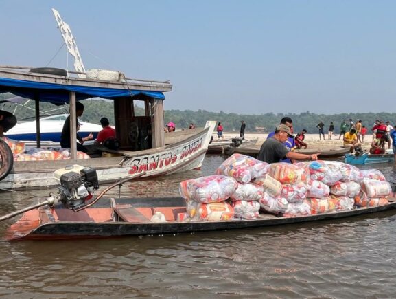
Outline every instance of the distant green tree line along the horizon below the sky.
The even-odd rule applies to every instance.
[[[10,97],[9,94],[0,94],[0,100]],[[113,102],[106,100],[84,100],[84,115],[82,115],[82,120],[86,122],[93,122],[96,124],[100,123],[100,118],[106,117],[110,120],[110,124],[114,124],[114,113],[113,113]],[[30,101],[27,104],[29,109],[21,109],[16,107],[16,104],[10,102],[5,102],[1,104],[1,109],[15,113],[18,120],[26,120],[30,118],[34,120],[34,101]],[[41,111],[48,111],[53,109],[54,105],[47,103],[40,103]],[[67,108],[60,109],[58,113],[68,113]],[[135,106],[135,113],[139,115],[144,115],[143,108]],[[176,129],[187,129],[189,124],[192,122],[196,126],[205,126],[207,120],[216,120],[216,122],[221,122],[224,131],[226,132],[238,132],[241,126],[241,120],[246,122],[246,132],[259,132],[259,133],[269,133],[273,131],[275,127],[279,124],[279,121],[284,116],[292,118],[294,124],[294,131],[301,131],[302,129],[307,129],[308,133],[318,133],[316,125],[319,122],[325,124],[325,132],[329,128],[330,122],[334,122],[335,133],[340,132],[340,124],[342,120],[352,119],[353,122],[356,120],[362,120],[362,124],[365,125],[369,132],[371,132],[371,127],[375,120],[389,120],[391,124],[396,124],[396,113],[340,113],[340,114],[316,114],[309,111],[303,113],[264,113],[259,115],[247,115],[247,114],[237,114],[237,113],[224,113],[220,112],[210,112],[206,110],[165,110],[165,123],[174,122],[176,124]],[[42,113],[43,115],[43,113]]]

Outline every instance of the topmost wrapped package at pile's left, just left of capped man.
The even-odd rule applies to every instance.
[[[248,183],[257,176],[267,173],[269,164],[253,157],[233,154],[216,170],[216,175],[233,177],[240,183]]]

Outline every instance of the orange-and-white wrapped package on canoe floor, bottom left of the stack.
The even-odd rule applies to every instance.
[[[234,217],[234,209],[229,203],[198,203],[187,200],[186,210],[192,221],[221,221]]]

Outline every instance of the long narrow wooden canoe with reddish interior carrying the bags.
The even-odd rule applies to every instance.
[[[8,229],[6,238],[8,240],[86,239],[257,228],[341,219],[395,208],[396,199],[391,198],[385,206],[354,208],[305,217],[286,218],[260,214],[255,220],[180,222],[177,221],[178,215],[186,211],[185,200],[182,198],[101,199],[95,206],[80,212],[73,212],[63,206],[42,207],[25,212],[21,219]],[[150,219],[156,212],[165,215],[166,222],[151,222]]]

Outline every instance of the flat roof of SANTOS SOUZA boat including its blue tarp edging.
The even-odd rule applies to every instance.
[[[138,95],[164,100],[164,92],[172,91],[170,82],[124,78],[124,82],[92,80],[72,76],[57,76],[30,72],[28,67],[0,66],[0,93],[39,98],[40,102],[69,102],[69,92],[75,92],[76,100],[106,98],[116,100],[121,97]],[[75,74],[75,72],[70,72]]]

